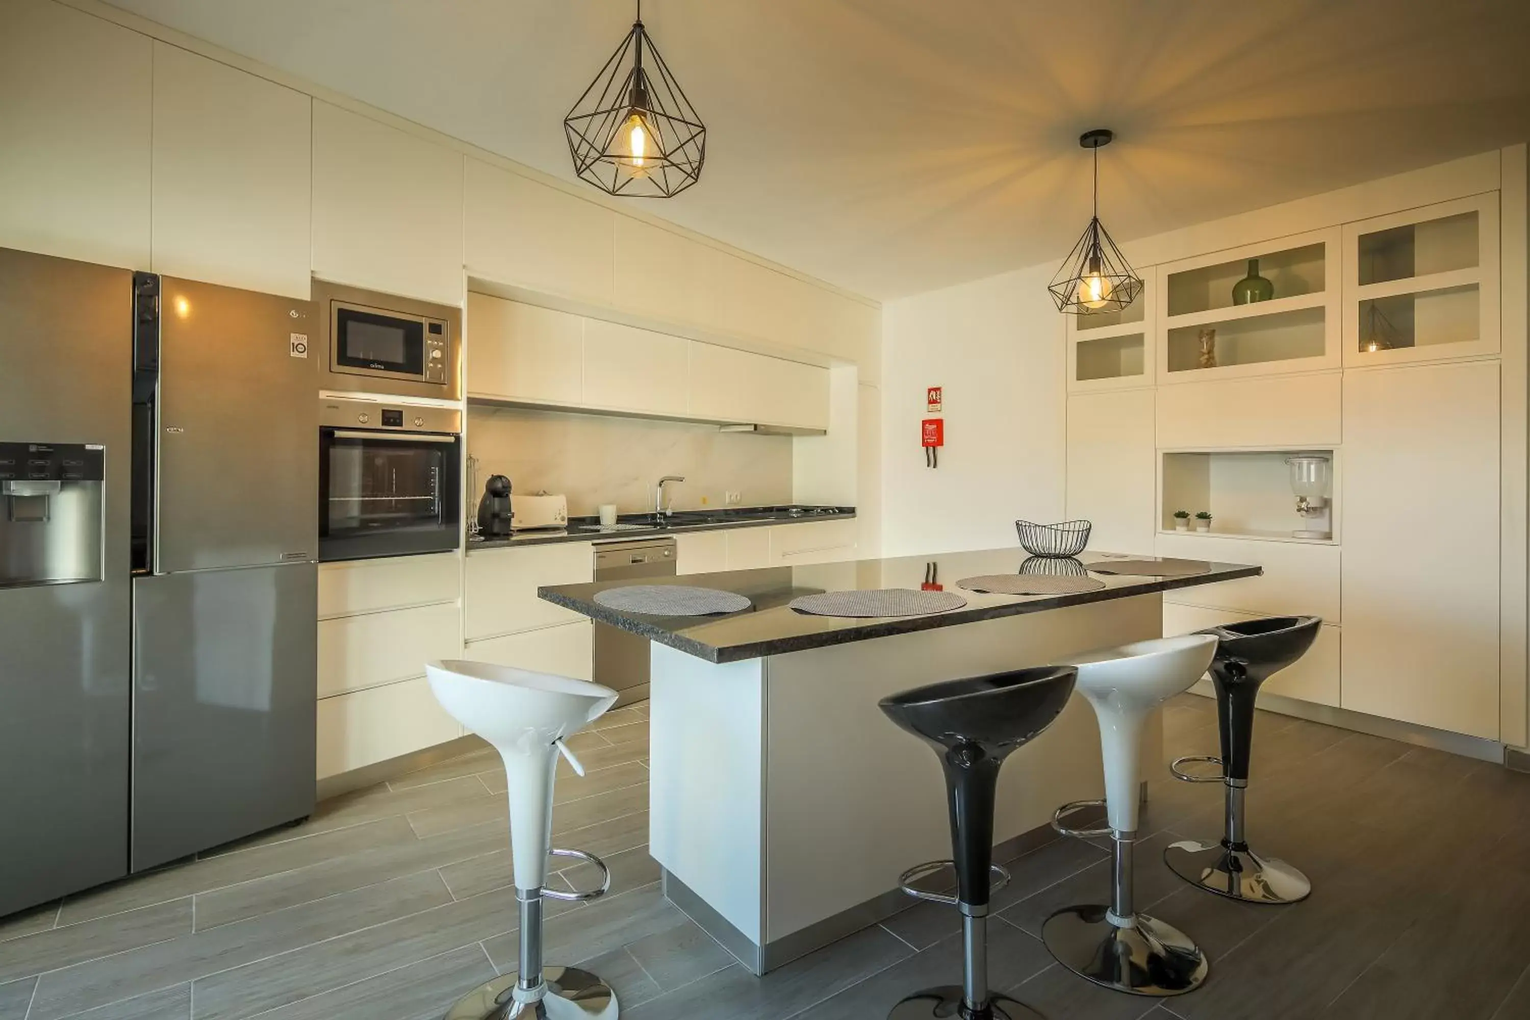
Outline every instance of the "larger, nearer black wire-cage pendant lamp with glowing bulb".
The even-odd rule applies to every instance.
[[[574,173],[610,194],[670,199],[701,179],[707,128],[643,28],[632,31],[563,119]]]

